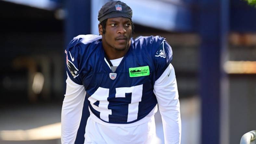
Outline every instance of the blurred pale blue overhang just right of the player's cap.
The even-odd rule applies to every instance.
[[[195,31],[193,10],[179,0],[122,0],[133,10],[133,22],[166,31]]]

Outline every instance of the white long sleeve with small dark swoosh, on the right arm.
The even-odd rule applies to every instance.
[[[162,117],[165,144],[180,144],[180,102],[172,64],[155,81],[154,93]]]

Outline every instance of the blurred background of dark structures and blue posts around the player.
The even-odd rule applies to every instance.
[[[64,49],[98,35],[108,0],[0,0],[0,144],[60,144]],[[234,144],[256,130],[256,8],[245,0],[123,0],[135,33],[173,48],[182,144]],[[156,114],[158,139],[163,132]]]

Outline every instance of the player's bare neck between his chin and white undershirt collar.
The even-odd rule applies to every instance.
[[[108,56],[109,60],[112,60],[112,59],[118,59],[118,58],[123,57],[128,52],[130,45],[131,45],[131,40],[128,42],[126,49],[122,50],[122,51],[117,50],[113,47],[110,47],[109,45],[103,44],[102,46],[103,46],[105,54]]]

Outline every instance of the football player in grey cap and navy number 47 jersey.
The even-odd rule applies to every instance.
[[[65,50],[62,144],[149,144],[156,137],[157,104],[165,143],[179,144],[180,104],[171,46],[160,36],[131,38],[132,9],[121,1],[102,6],[98,20],[100,36],[79,35]]]

